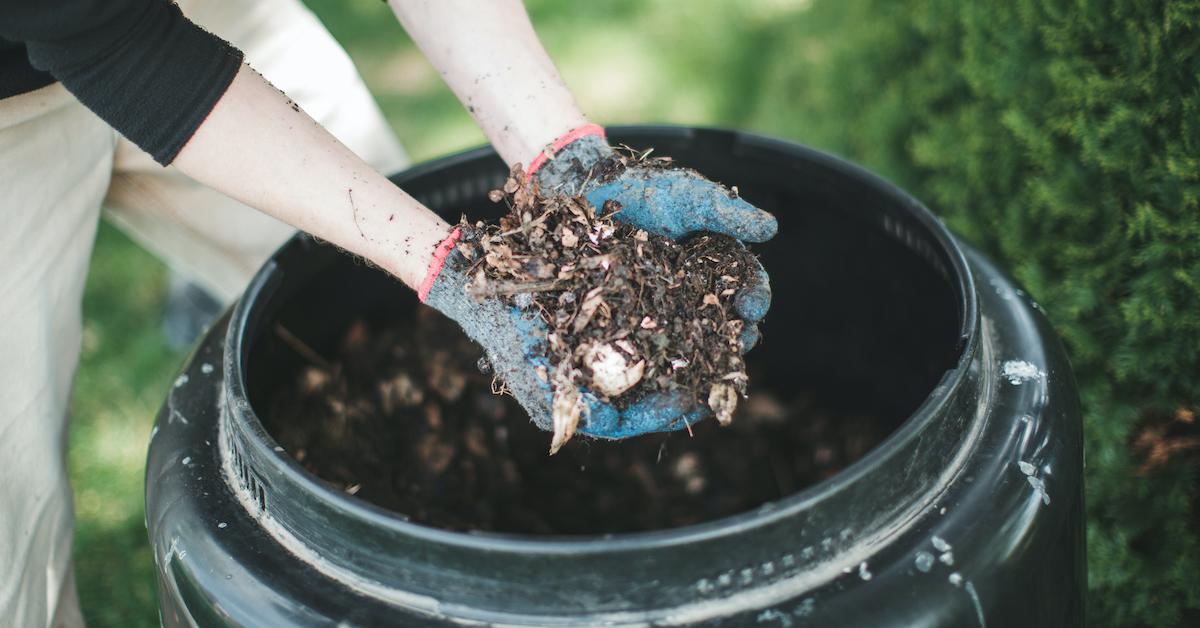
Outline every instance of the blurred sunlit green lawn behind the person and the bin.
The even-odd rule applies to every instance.
[[[307,4],[349,50],[415,161],[484,142],[386,5]],[[760,71],[772,32],[779,32],[769,26],[799,19],[805,0],[532,0],[528,6],[593,120],[776,133],[796,125],[786,107],[764,106],[750,95],[761,94],[770,78]],[[803,43],[786,42],[782,49],[817,54]],[[158,623],[143,525],[143,465],[154,414],[182,359],[160,333],[164,285],[161,263],[102,226],[84,297],[71,427],[79,592],[89,623],[100,628]]]

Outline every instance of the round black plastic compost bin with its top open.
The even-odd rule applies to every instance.
[[[1080,414],[1038,305],[920,203],[844,161],[728,131],[612,136],[779,217],[757,249],[775,304],[749,355],[751,399],[806,390],[866,408],[881,442],[820,482],[682,527],[413,522],[310,474],[260,420],[302,361],[278,325],[323,352],[364,311],[416,307],[397,282],[298,237],[208,333],[158,415],[146,524],[163,623],[1079,626]],[[448,219],[482,217],[498,213],[485,198],[504,173],[480,149],[395,181]],[[788,451],[785,465],[816,455]]]

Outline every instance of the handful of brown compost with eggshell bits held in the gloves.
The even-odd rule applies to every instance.
[[[490,195],[510,213],[461,225],[458,251],[474,262],[468,292],[536,309],[547,327],[539,376],[553,390],[551,453],[575,433],[580,388],[617,407],[683,393],[727,425],[748,384],[733,299],[754,256],[725,235],[653,235],[617,220],[616,201],[598,210],[523,181],[515,166]]]

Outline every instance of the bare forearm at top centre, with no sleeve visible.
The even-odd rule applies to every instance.
[[[389,0],[508,163],[587,122],[520,0]]]

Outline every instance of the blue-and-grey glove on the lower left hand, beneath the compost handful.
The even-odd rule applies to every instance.
[[[529,413],[538,427],[554,433],[551,453],[558,450],[576,430],[601,438],[628,438],[641,433],[683,429],[703,418],[707,408],[692,408],[695,401],[682,395],[647,395],[618,411],[588,390],[578,396],[556,399],[552,382],[556,373],[550,361],[539,354],[547,329],[533,301],[509,305],[499,297],[476,298],[468,293],[470,262],[455,247],[460,231],[451,232],[434,253],[430,274],[418,291],[421,300],[446,315],[484,347],[493,372]],[[520,301],[520,299],[517,299]],[[562,387],[574,390],[574,387]],[[559,418],[553,405],[569,403],[578,408],[575,423]]]

